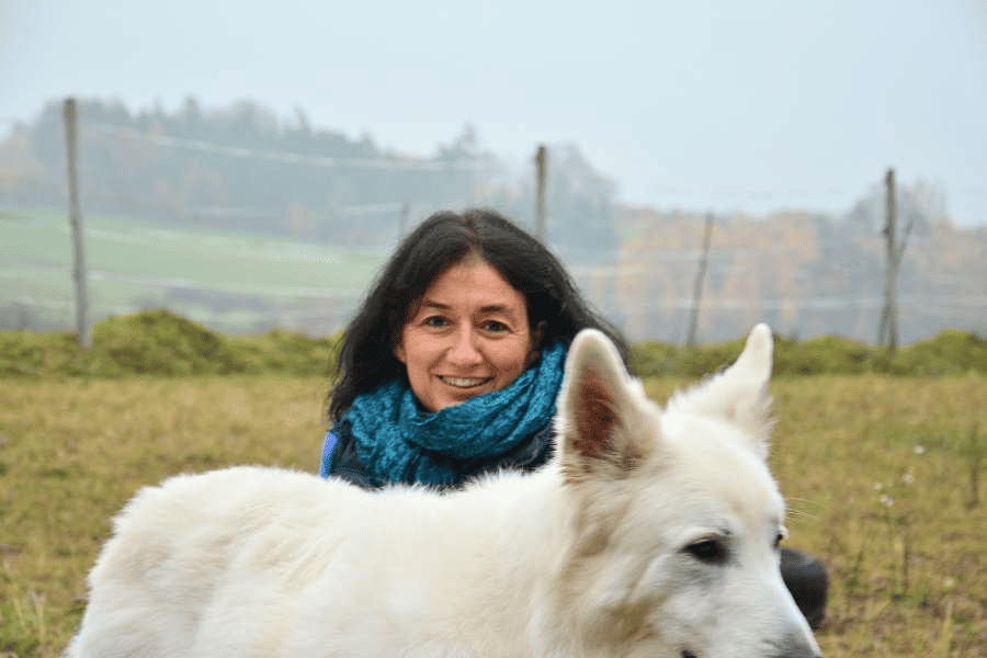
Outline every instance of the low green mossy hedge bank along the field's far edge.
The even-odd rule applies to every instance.
[[[340,338],[308,338],[281,330],[250,337],[225,336],[167,310],[145,310],[97,324],[92,347],[86,351],[78,348],[71,332],[2,331],[0,376],[327,375],[336,368]],[[734,361],[742,347],[742,339],[694,349],[644,341],[633,345],[631,362],[642,377],[700,377]],[[866,372],[903,376],[987,375],[987,340],[946,330],[901,348],[888,359],[883,349],[846,338],[795,341],[775,337],[778,376]]]

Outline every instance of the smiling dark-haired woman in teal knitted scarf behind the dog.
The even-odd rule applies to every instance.
[[[626,361],[537,240],[491,211],[432,215],[347,328],[321,474],[450,488],[543,465],[566,350],[587,327]]]

